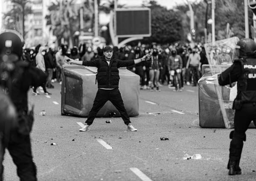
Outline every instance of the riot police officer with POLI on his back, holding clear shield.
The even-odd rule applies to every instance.
[[[251,121],[256,120],[256,43],[249,38],[242,38],[237,43],[238,59],[233,65],[218,75],[221,86],[232,86],[237,81],[237,96],[233,102],[236,110],[235,129],[230,132],[230,155],[227,168],[229,175],[241,174],[239,162],[246,141],[246,130]]]

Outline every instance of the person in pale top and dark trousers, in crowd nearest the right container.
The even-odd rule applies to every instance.
[[[197,85],[197,82],[199,80],[200,74],[199,71],[201,71],[201,57],[196,52],[195,49],[192,49],[192,53],[189,54],[189,59],[186,64],[186,69],[189,69],[189,71],[192,72],[193,76],[193,86]],[[186,78],[186,80],[189,80],[189,77]]]

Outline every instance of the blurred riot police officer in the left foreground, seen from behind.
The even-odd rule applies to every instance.
[[[0,34],[0,86],[9,96],[17,114],[15,124],[7,122],[3,130],[9,134],[0,132],[3,135],[0,137],[0,158],[3,158],[5,148],[8,149],[17,166],[20,181],[36,181],[29,135],[34,121],[33,108],[28,108],[27,92],[30,86],[38,86],[44,82],[46,76],[39,69],[29,66],[29,62],[22,60],[23,45],[23,38],[14,30],[6,30]],[[1,118],[2,116],[0,115]],[[0,160],[1,167],[2,161]],[[0,169],[0,181],[2,176],[3,167]]]

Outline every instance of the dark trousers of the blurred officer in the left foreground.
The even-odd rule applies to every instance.
[[[20,181],[37,181],[36,166],[32,158],[29,135],[12,134],[7,149],[12,156],[13,162],[17,166],[17,175],[19,176]],[[5,147],[1,147],[1,154],[4,155],[4,153]],[[0,164],[2,164],[2,162]],[[0,170],[0,181],[3,180],[2,176],[3,166]]]

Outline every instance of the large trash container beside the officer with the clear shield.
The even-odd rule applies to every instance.
[[[232,109],[233,101],[236,98],[236,86],[219,86],[218,80],[212,80],[212,75],[221,73],[229,66],[227,65],[203,65],[202,78],[198,80],[199,97],[199,125],[204,128],[225,128],[220,102],[224,105],[228,121],[233,124],[235,110]],[[222,98],[218,98],[216,89],[221,89]],[[250,127],[255,127],[253,123]]]

